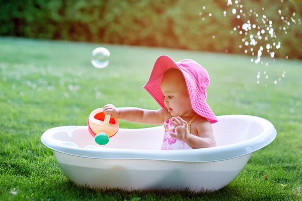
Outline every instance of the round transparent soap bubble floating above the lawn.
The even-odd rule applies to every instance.
[[[98,69],[103,69],[109,64],[110,52],[104,47],[92,51],[91,63]]]

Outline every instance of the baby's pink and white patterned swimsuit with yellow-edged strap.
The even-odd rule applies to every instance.
[[[188,129],[190,132],[190,125],[192,123],[192,121],[197,117],[198,115],[195,115],[189,122],[188,122]],[[175,129],[174,126],[172,125],[172,123],[170,123],[169,121],[170,119],[168,119],[167,121],[164,122],[164,126],[165,126],[165,133],[164,133],[164,140],[162,143],[162,150],[178,150],[178,149],[192,149],[190,146],[187,145],[187,143],[177,140],[175,138],[172,138],[170,136],[170,132],[175,133]],[[173,129],[173,130],[172,130]],[[171,131],[169,131],[171,130]],[[191,132],[190,132],[191,133]]]

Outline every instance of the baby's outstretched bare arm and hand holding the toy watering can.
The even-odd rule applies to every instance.
[[[147,110],[137,107],[118,107],[112,104],[104,106],[104,113],[111,114],[126,121],[144,124],[163,124],[166,119],[171,115],[167,109]]]

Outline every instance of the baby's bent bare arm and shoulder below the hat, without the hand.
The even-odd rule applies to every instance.
[[[198,124],[196,125],[193,132],[196,132],[197,136],[190,133],[189,138],[186,141],[187,145],[193,149],[216,147],[217,145],[211,123],[208,121],[201,121],[196,123]]]

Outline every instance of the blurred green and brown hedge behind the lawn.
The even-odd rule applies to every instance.
[[[262,46],[262,56],[302,58],[302,4],[288,0],[0,0],[0,5],[2,36],[255,56]],[[251,28],[243,29],[244,23]]]

